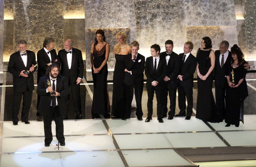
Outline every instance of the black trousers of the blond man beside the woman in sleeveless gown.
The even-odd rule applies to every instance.
[[[187,97],[187,114],[186,114],[186,97]],[[178,85],[178,106],[180,115],[184,114],[191,117],[193,113],[193,87],[181,87]]]

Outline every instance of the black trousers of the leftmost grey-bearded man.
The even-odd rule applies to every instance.
[[[27,121],[29,110],[32,101],[33,91],[27,90],[25,92],[13,92],[13,104],[12,104],[12,122],[18,122],[18,113],[20,111],[21,98],[23,96],[22,102],[22,112],[21,112],[21,121]]]

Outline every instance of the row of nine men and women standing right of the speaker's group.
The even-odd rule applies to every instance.
[[[107,61],[110,46],[106,43],[103,30],[98,29],[95,35],[95,43],[91,46],[94,80],[92,118],[100,118],[100,114],[109,118]],[[118,43],[114,45],[116,64],[113,75],[111,118],[123,120],[130,118],[134,93],[137,119],[143,120],[141,101],[145,69],[148,92],[148,114],[145,122],[150,122],[152,119],[154,93],[160,123],[164,122],[162,118],[165,117],[169,120],[174,117],[185,117],[186,120],[190,120],[193,113],[193,78],[196,71],[198,86],[196,118],[215,123],[223,122],[225,119],[226,126],[231,124],[239,126],[243,115],[243,101],[248,96],[245,75],[250,66],[244,60],[244,54],[237,45],[231,47],[230,52],[229,43],[222,41],[219,50],[214,52],[211,39],[203,37],[196,56],[191,54],[193,43],[190,41],[184,44],[184,52],[178,55],[172,51],[174,43],[167,40],[165,52],[160,53],[158,44],[151,45],[151,56],[145,60],[145,57],[138,53],[137,41],[133,41],[129,46],[126,42],[127,35],[123,32],[118,32],[116,39]],[[215,81],[216,103],[212,92],[213,81]],[[180,112],[175,115],[177,88]]]

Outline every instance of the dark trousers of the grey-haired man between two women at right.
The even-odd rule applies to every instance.
[[[216,107],[219,118],[225,118],[225,88],[215,86]]]

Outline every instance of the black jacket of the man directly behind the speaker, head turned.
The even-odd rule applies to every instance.
[[[61,64],[55,49],[51,50],[50,54],[51,54],[52,61],[50,61],[50,58],[46,53],[46,51],[44,50],[44,48],[40,49],[37,52],[37,63],[38,63],[37,83],[39,82],[39,79],[42,76],[46,75],[46,69],[48,67],[48,65],[46,64],[55,63],[55,64],[58,64],[59,66]],[[57,59],[58,61],[54,62],[55,59]]]

